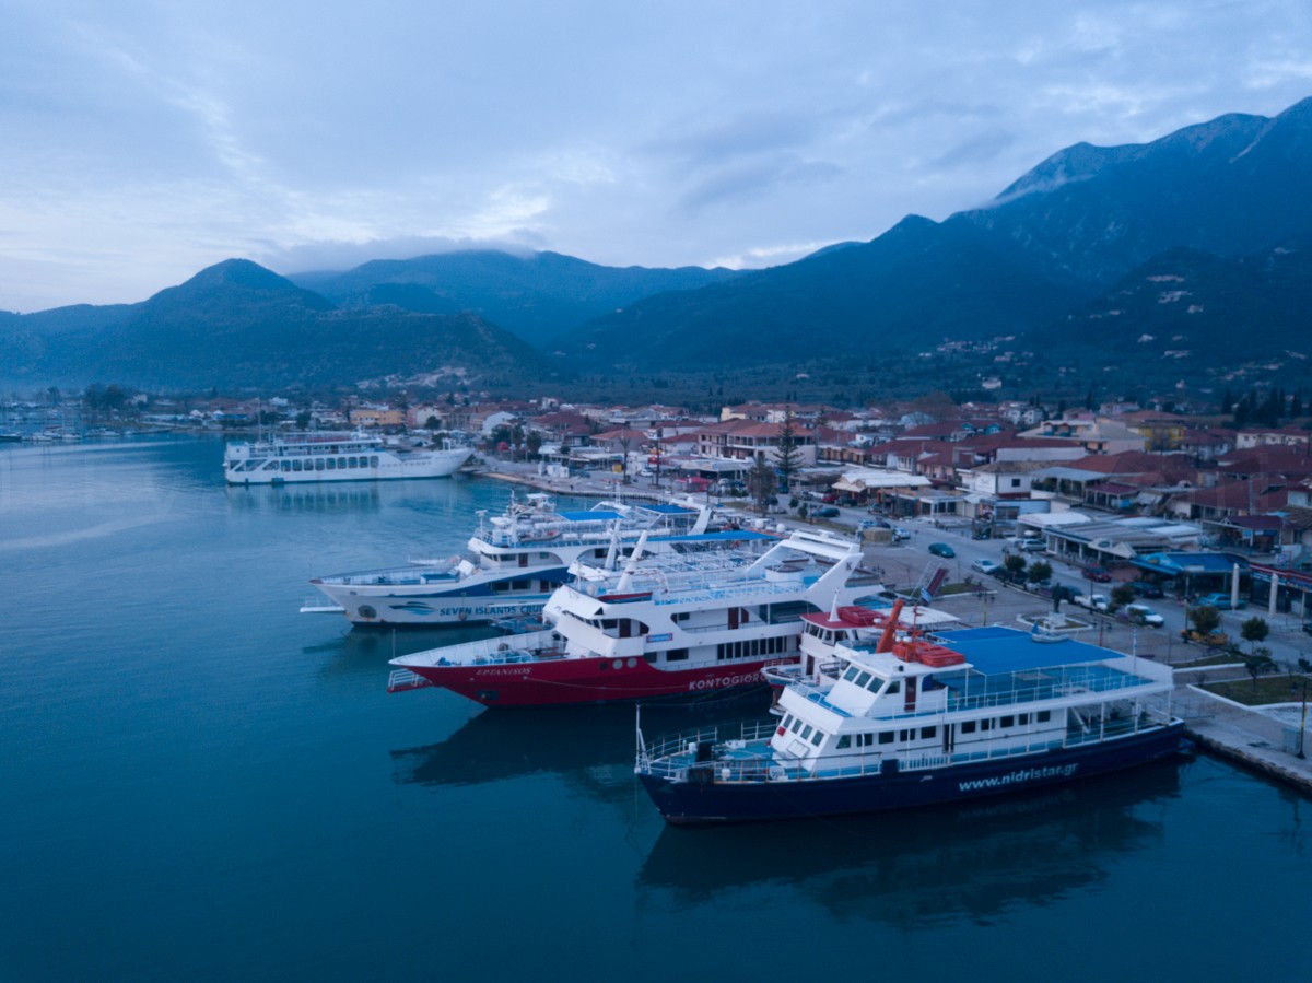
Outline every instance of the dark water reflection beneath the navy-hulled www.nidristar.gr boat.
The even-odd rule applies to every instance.
[[[1179,793],[1166,763],[970,807],[708,829],[666,827],[639,871],[644,902],[685,908],[750,887],[794,891],[836,917],[924,929],[988,924],[1018,904],[1096,887],[1120,854],[1161,840]]]

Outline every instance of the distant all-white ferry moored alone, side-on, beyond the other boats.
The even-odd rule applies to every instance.
[[[223,476],[228,484],[450,478],[472,454],[472,448],[408,448],[359,432],[281,433],[228,444]]]

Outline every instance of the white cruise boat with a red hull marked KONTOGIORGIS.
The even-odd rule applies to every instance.
[[[798,661],[803,614],[882,589],[851,539],[798,530],[762,554],[748,535],[653,555],[644,537],[623,571],[579,562],[543,609],[551,629],[392,659],[388,688],[541,706],[752,686]]]

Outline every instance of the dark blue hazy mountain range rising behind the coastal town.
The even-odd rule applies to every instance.
[[[281,277],[230,260],[139,304],[0,312],[0,382],[529,392],[748,367],[783,385],[838,365],[895,387],[914,374],[890,358],[945,340],[980,343],[951,362],[956,388],[998,373],[1015,390],[1294,378],[1312,361],[1309,173],[1304,100],[1076,144],[987,207],[764,270],[466,251]]]

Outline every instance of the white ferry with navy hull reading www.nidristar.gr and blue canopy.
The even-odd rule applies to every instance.
[[[879,639],[825,626],[830,658],[787,680],[768,726],[680,734],[636,774],[666,822],[866,812],[1043,787],[1187,749],[1172,669],[1009,627]],[[816,622],[819,625],[819,622]],[[819,637],[813,634],[813,637]]]

